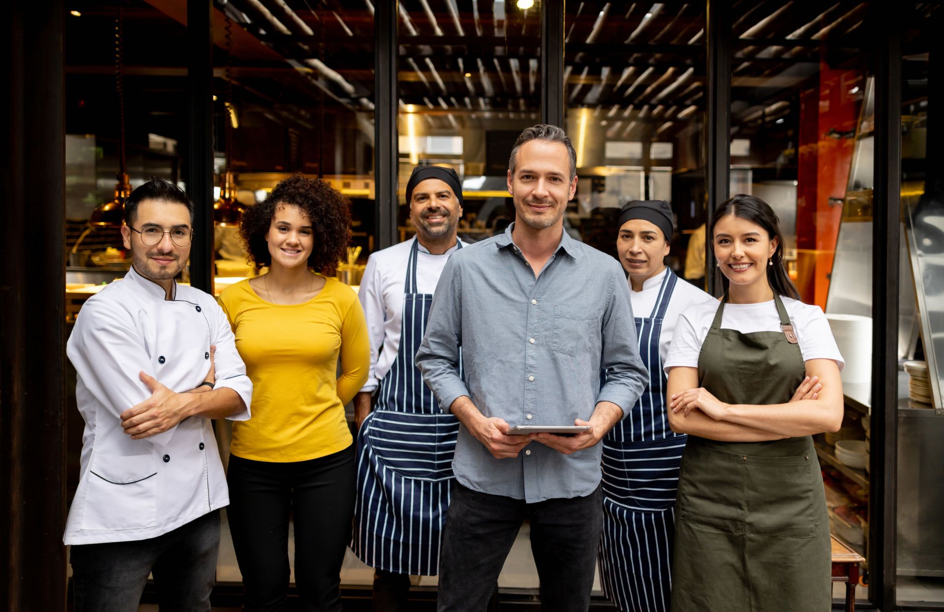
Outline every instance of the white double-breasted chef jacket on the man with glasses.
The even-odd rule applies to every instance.
[[[194,389],[216,345],[216,388],[245,403],[232,420],[249,418],[252,382],[233,333],[212,296],[175,283],[165,300],[159,284],[134,268],[89,298],[69,336],[76,401],[85,419],[81,477],[66,521],[66,544],[156,537],[229,503],[211,419],[186,418],[167,432],[132,440],[121,415],[151,396],[139,372],[173,391]]]

